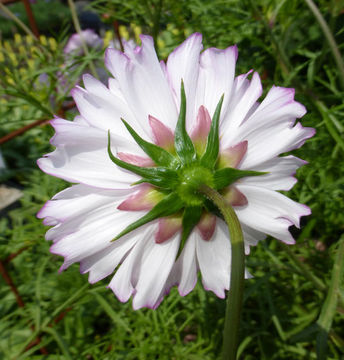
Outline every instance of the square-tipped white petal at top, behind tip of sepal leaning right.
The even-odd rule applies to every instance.
[[[225,50],[209,48],[201,54],[195,111],[204,105],[212,117],[217,103],[224,94],[221,118],[225,116],[232,95],[237,57],[236,46]]]

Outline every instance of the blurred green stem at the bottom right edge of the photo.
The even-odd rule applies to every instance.
[[[327,339],[331,330],[333,318],[336,314],[340,283],[344,271],[344,235],[339,240],[339,247],[335,257],[329,291],[322,306],[319,319],[317,321],[320,327],[317,336],[317,358],[318,360],[327,359]]]

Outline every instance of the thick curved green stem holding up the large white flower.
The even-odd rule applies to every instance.
[[[200,191],[219,208],[229,230],[232,248],[231,279],[223,331],[222,359],[236,360],[245,280],[244,237],[240,222],[234,210],[226,203],[225,199],[217,191],[206,185],[202,185]]]

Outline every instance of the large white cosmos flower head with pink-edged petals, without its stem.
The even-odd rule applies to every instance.
[[[259,102],[259,75],[235,77],[236,46],[202,52],[193,34],[159,63],[152,38],[141,41],[108,49],[108,87],[85,75],[72,91],[80,115],[52,120],[56,150],[38,165],[74,185],[38,217],[52,226],[46,239],[64,257],[61,271],[80,263],[90,283],[114,273],[109,288],[134,309],[156,308],[174,285],[188,294],[198,272],[224,298],[229,234],[197,187],[216,188],[233,207],[246,253],[266,235],[293,244],[288,228],[310,210],[279,191],[305,162],[279,155],[314,130],[295,123],[306,110],[293,89],[273,86]]]

